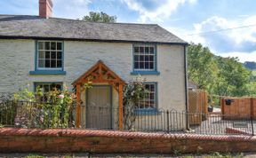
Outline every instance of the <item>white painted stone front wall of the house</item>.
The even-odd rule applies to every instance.
[[[29,75],[35,70],[34,40],[0,40],[0,92],[15,92],[35,82],[71,83],[99,59],[125,81],[132,80],[132,43],[64,42],[64,70],[67,75]],[[185,110],[183,46],[157,45],[160,75],[142,75],[156,82],[158,107]],[[115,101],[116,102],[116,101]]]

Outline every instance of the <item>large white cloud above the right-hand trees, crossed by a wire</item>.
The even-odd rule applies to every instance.
[[[236,20],[227,20],[214,16],[201,23],[195,24],[195,32],[199,35],[196,37],[203,38],[201,42],[209,46],[212,51],[216,52],[252,52],[256,51],[256,16],[246,18],[242,22]],[[248,28],[238,28],[241,26],[253,25]],[[228,29],[235,28],[235,29]],[[225,31],[216,31],[228,29]],[[213,32],[211,32],[213,31]],[[216,32],[215,32],[216,31]],[[205,34],[200,34],[204,33]],[[209,32],[209,33],[207,33]],[[196,39],[190,36],[190,39]],[[189,38],[189,37],[188,37]],[[193,40],[192,40],[193,41]]]

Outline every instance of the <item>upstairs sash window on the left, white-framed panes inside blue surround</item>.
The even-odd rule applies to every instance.
[[[37,69],[62,69],[63,43],[57,41],[37,42]]]

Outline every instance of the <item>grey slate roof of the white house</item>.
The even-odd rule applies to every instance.
[[[0,15],[0,38],[187,44],[156,24],[99,23],[30,15]]]

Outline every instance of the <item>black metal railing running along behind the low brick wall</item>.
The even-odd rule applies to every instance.
[[[0,101],[0,126],[18,128],[74,128],[76,104],[52,105]],[[81,106],[81,128],[118,130],[118,107]],[[204,135],[254,135],[250,115],[186,113],[176,110],[138,110],[124,107],[124,130]],[[188,123],[187,123],[188,122]]]

